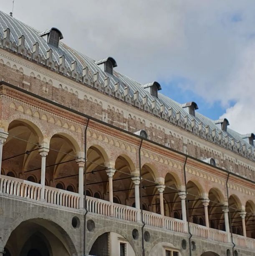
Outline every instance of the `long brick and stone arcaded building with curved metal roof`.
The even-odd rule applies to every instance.
[[[62,39],[0,12],[0,255],[254,256],[254,134]]]

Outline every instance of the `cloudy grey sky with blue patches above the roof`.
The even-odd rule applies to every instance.
[[[0,10],[12,11],[13,0]],[[254,0],[15,0],[13,16],[180,103],[255,132]]]

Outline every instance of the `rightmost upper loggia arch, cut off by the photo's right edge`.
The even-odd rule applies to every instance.
[[[247,201],[245,204],[245,227],[246,236],[255,238],[255,204],[252,201]]]

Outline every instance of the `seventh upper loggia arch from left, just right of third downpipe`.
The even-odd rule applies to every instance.
[[[191,222],[195,224],[205,225],[204,222],[199,221],[199,219],[205,216],[205,208],[202,205],[201,202],[201,192],[197,185],[189,181],[187,183],[187,201],[188,201],[188,207],[189,207],[189,218]]]

